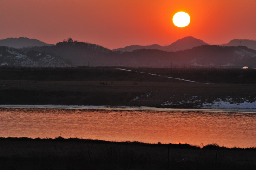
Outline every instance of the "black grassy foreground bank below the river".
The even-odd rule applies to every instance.
[[[4,169],[256,169],[255,148],[70,138],[0,140]]]

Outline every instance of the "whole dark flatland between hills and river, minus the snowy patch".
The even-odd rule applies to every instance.
[[[115,68],[1,68],[0,101],[1,104],[165,108],[200,108],[203,103],[230,98],[238,103],[255,102],[255,70],[132,70],[221,83],[190,83]]]

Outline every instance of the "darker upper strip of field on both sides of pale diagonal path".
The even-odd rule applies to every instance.
[[[203,83],[255,84],[255,69],[162,69],[125,68],[132,71],[183,78]],[[1,80],[33,81],[156,81],[180,82],[179,80],[127,72],[116,68],[15,68],[1,67]]]

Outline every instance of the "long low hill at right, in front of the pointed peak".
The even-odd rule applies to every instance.
[[[177,52],[139,49],[124,52],[123,57],[127,59],[127,65],[141,67],[209,68],[212,65],[216,68],[241,68],[243,65],[255,68],[255,53],[246,46],[202,45]]]

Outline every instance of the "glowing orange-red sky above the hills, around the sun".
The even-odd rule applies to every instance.
[[[209,44],[256,37],[256,1],[3,1],[0,39],[73,40],[113,49],[169,45],[185,36]],[[184,28],[175,13],[190,15]]]

